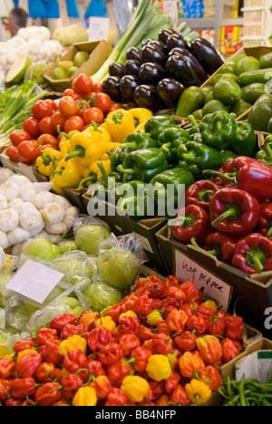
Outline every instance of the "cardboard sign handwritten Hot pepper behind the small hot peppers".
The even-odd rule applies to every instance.
[[[181,283],[192,281],[199,290],[216,300],[219,309],[227,312],[230,303],[232,287],[216,275],[211,274],[187,255],[176,250],[176,273]]]

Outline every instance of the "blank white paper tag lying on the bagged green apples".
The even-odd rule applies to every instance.
[[[43,304],[63,276],[62,273],[48,268],[48,266],[27,261],[6,287],[38,304]]]

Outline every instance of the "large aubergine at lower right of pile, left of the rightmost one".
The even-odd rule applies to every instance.
[[[171,78],[182,82],[185,87],[189,87],[191,85],[199,87],[201,85],[196,73],[193,71],[186,57],[178,55],[170,56],[165,69]]]

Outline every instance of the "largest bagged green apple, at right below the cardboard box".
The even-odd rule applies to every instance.
[[[136,255],[122,247],[112,247],[98,258],[98,271],[107,283],[129,290],[141,267]]]

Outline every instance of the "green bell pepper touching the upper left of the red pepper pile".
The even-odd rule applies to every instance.
[[[195,177],[200,176],[204,169],[219,169],[223,165],[219,150],[196,141],[181,144],[178,158],[180,168],[189,170]]]

